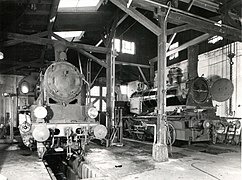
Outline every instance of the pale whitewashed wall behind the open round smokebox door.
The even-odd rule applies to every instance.
[[[220,116],[242,117],[242,43],[236,42],[231,44],[231,50],[235,53],[233,58],[233,84],[234,93],[232,96],[232,114],[229,112],[229,101],[218,105],[217,114]],[[199,55],[198,75],[206,78],[219,76],[221,78],[230,78],[230,59],[229,45],[213,51]]]

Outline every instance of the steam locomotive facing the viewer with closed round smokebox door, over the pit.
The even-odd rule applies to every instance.
[[[38,81],[33,77],[20,81],[20,96],[34,100],[19,110],[19,130],[27,147],[37,147],[39,158],[51,151],[66,152],[67,157],[82,155],[90,139],[105,138],[106,127],[95,120],[97,109],[85,105],[82,78],[74,65],[58,59],[40,73]]]

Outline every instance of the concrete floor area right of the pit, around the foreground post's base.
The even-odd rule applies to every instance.
[[[91,145],[86,161],[110,177],[122,180],[241,180],[241,148],[193,144],[172,147],[169,161],[152,160],[150,144],[125,141],[123,147]]]

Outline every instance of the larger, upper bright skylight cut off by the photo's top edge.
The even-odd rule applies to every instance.
[[[97,11],[103,0],[60,0],[58,12]]]

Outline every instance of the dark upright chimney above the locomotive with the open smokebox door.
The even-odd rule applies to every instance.
[[[198,53],[199,46],[194,45],[188,47],[188,79],[195,79],[198,77]]]

